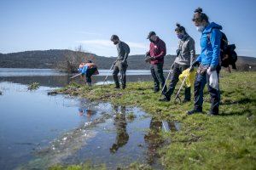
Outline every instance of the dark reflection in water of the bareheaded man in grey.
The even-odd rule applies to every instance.
[[[121,106],[119,111],[119,107],[117,105],[113,105],[113,111],[115,113],[113,125],[116,128],[116,138],[115,143],[109,149],[111,153],[115,153],[120,147],[127,144],[129,140],[129,134],[126,130],[127,122],[125,117],[125,106]]]

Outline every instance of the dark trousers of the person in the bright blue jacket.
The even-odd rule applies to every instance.
[[[219,73],[219,70],[217,71]],[[209,86],[209,77],[207,71],[202,74],[196,73],[195,76],[195,110],[202,110],[203,104],[203,90],[207,84],[208,92],[211,95],[211,114],[218,114],[218,105],[220,102],[219,89],[214,89]]]

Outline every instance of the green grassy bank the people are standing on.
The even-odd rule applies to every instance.
[[[160,120],[181,122],[180,131],[163,133],[172,141],[159,150],[166,169],[255,169],[256,72],[221,72],[220,77],[219,116],[207,116],[207,88],[204,114],[192,116],[185,112],[193,108],[193,102],[180,105],[172,98],[162,103],[158,101],[160,94],[153,93],[153,82],[130,82],[125,90],[113,89],[113,85],[87,87],[73,83],[58,93],[137,105]]]

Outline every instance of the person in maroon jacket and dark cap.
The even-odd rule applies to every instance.
[[[150,71],[154,80],[154,93],[157,93],[160,91],[160,83],[161,87],[164,88],[166,82],[163,74],[166,43],[160,37],[156,36],[154,31],[148,33],[147,39],[149,39],[150,45],[149,51],[145,54],[148,59],[145,59],[145,61],[150,63]],[[166,89],[165,86],[163,92],[166,92]]]

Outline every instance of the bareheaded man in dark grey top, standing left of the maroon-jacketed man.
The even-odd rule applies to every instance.
[[[125,42],[121,42],[117,35],[113,35],[110,40],[116,45],[118,51],[118,57],[113,62],[113,81],[115,83],[115,88],[120,88],[118,74],[120,71],[120,79],[122,83],[122,88],[126,88],[126,70],[127,70],[127,58],[130,54],[130,48]]]

